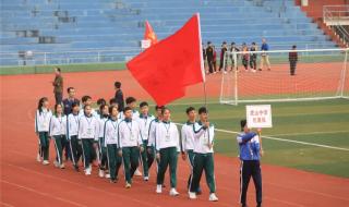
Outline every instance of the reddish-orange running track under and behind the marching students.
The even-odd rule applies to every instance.
[[[264,73],[264,72],[263,72]],[[265,72],[267,73],[267,72]],[[273,73],[273,72],[269,72]],[[113,82],[123,82],[124,94],[139,99],[148,99],[147,94],[132,80],[127,71],[63,74],[64,86],[74,86],[77,96],[88,94],[98,97],[113,96]],[[41,166],[35,161],[37,137],[34,133],[34,111],[37,99],[48,96],[53,102],[51,74],[1,76],[1,206],[238,206],[239,161],[220,155],[215,157],[218,203],[207,202],[208,193],[204,180],[203,195],[189,200],[185,183],[189,166],[179,161],[179,197],[170,197],[168,187],[163,195],[155,193],[155,171],[151,181],[134,179],[131,190],[123,187],[123,179],[110,184],[106,179],[86,178],[76,173],[70,165],[58,170],[52,165]],[[208,76],[209,97],[219,94],[220,76]],[[202,86],[188,90],[189,97],[202,97]],[[232,137],[233,138],[233,137]],[[51,144],[50,159],[55,157]],[[328,207],[349,206],[349,180],[294,169],[263,165],[264,206],[267,207]],[[122,175],[121,175],[122,176]],[[166,179],[167,185],[168,178]],[[249,204],[254,206],[253,184],[250,185]]]

